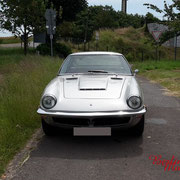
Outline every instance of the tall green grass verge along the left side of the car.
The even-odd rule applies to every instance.
[[[59,58],[24,57],[21,53],[0,55],[0,60],[3,58],[0,66],[0,174],[40,127],[36,111],[41,94],[62,63]]]

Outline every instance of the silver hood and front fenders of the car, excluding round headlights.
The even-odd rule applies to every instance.
[[[107,74],[58,76],[46,86],[44,95],[56,97],[52,111],[74,112],[132,110],[127,99],[132,95],[143,98],[134,76]]]

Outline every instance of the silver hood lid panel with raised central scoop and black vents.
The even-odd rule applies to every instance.
[[[108,75],[64,78],[64,97],[67,99],[117,99],[121,96],[125,79],[125,77]]]

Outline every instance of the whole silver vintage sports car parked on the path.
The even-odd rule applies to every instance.
[[[137,71],[119,53],[69,55],[40,101],[44,133],[70,127],[74,135],[111,135],[112,128],[130,128],[141,136],[146,108]]]

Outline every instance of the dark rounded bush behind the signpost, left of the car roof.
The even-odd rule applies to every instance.
[[[50,55],[51,54],[51,45],[50,44],[40,44],[37,48],[37,51],[41,55]],[[55,43],[53,45],[53,53],[55,56],[66,57],[72,53],[71,48],[63,43]]]

